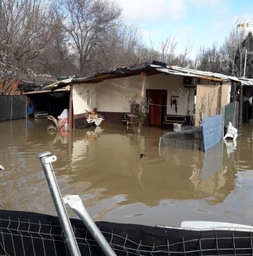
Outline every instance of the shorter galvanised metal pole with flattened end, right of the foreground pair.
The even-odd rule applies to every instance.
[[[65,196],[63,200],[64,203],[69,204],[71,209],[81,218],[86,228],[90,231],[96,242],[98,242],[104,254],[107,256],[116,256],[115,251],[113,251],[106,238],[104,238],[103,234],[98,229],[98,226],[96,226],[95,222],[92,220],[90,214],[88,214],[81,198],[78,195],[68,195]]]

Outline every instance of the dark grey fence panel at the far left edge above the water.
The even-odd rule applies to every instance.
[[[26,96],[0,96],[0,121],[27,117]]]

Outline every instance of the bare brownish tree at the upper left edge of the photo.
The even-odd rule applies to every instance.
[[[30,61],[40,55],[57,33],[52,8],[40,0],[1,0],[0,78],[5,93],[11,82],[30,74]]]

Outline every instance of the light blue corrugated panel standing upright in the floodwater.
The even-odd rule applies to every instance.
[[[221,141],[223,128],[223,114],[205,117],[202,122],[204,151]]]

